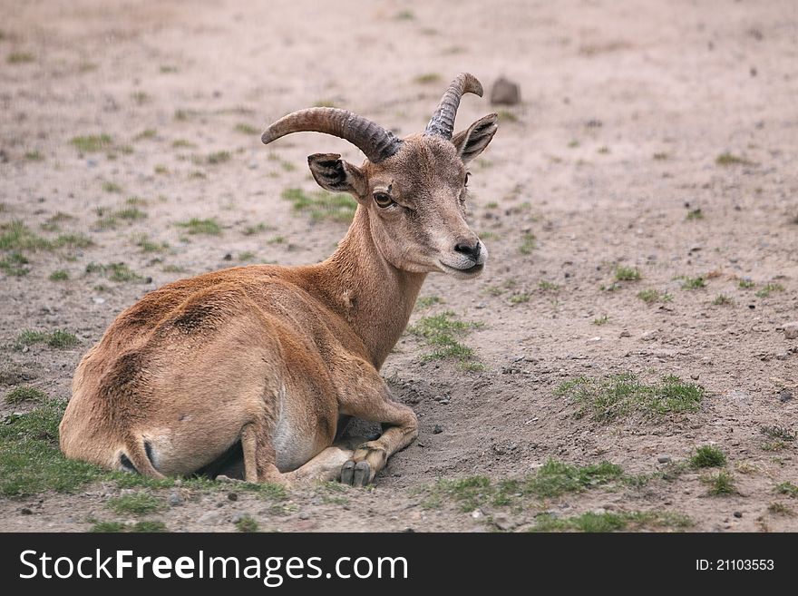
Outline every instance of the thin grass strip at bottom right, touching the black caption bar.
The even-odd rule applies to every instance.
[[[671,512],[587,512],[572,517],[544,513],[530,532],[621,532],[647,529],[685,530],[695,523],[686,515]]]

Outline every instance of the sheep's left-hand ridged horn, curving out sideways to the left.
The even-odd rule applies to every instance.
[[[391,157],[402,146],[393,132],[340,108],[308,108],[289,113],[268,127],[260,140],[268,144],[291,132],[324,132],[351,142],[372,163]]]

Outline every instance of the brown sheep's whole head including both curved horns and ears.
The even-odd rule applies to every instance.
[[[314,131],[352,142],[367,158],[360,167],[336,153],[316,153],[307,161],[322,188],[349,192],[368,210],[384,258],[407,271],[473,277],[482,272],[488,251],[465,221],[467,165],[491,142],[498,118],[489,114],[453,134],[463,93],[482,96],[472,74],[454,79],[423,134],[404,139],[352,112],[311,108],[281,118],[262,140]]]

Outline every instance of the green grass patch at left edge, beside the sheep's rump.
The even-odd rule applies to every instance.
[[[31,412],[5,416],[0,424],[0,494],[70,493],[102,475],[100,468],[65,459],[59,451],[58,425],[65,406],[46,400]]]

